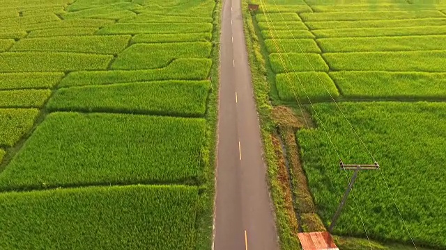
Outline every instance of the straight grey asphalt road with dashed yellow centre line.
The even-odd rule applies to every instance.
[[[215,203],[216,250],[279,249],[262,158],[240,0],[225,0]]]

